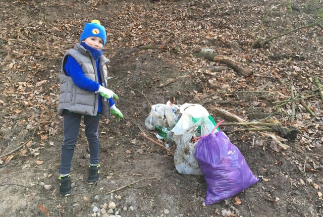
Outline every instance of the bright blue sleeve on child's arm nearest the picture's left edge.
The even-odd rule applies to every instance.
[[[64,69],[67,75],[71,76],[73,82],[79,88],[90,92],[95,92],[99,89],[99,84],[84,75],[81,66],[73,57],[67,57]]]

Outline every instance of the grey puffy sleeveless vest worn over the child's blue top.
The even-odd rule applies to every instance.
[[[107,118],[110,117],[109,101],[105,97],[99,97],[99,93],[90,92],[77,87],[72,78],[65,74],[64,65],[68,56],[72,56],[77,63],[82,67],[84,75],[98,83],[97,67],[94,58],[90,51],[86,50],[80,43],[77,43],[74,49],[68,50],[62,61],[60,74],[60,96],[58,114],[63,116],[64,110],[75,112],[83,115],[96,116],[98,108],[98,100],[101,98],[101,114]],[[101,56],[99,59],[99,68],[101,75],[101,84],[106,87],[107,84],[107,69],[106,65],[109,59]]]

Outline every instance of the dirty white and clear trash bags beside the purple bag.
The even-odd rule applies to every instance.
[[[155,130],[157,138],[176,143],[174,162],[179,173],[203,175],[194,156],[197,142],[192,139],[209,134],[216,122],[202,105],[175,105],[170,101],[152,105],[145,126],[148,130]]]

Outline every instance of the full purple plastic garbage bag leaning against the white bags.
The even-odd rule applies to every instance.
[[[207,184],[205,205],[230,198],[259,181],[222,131],[202,136],[195,157]]]

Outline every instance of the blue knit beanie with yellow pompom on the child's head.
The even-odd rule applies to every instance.
[[[85,38],[96,36],[100,37],[103,40],[103,46],[106,41],[106,33],[104,26],[101,26],[100,21],[92,20],[91,23],[85,23],[83,32],[81,34],[81,41]]]

